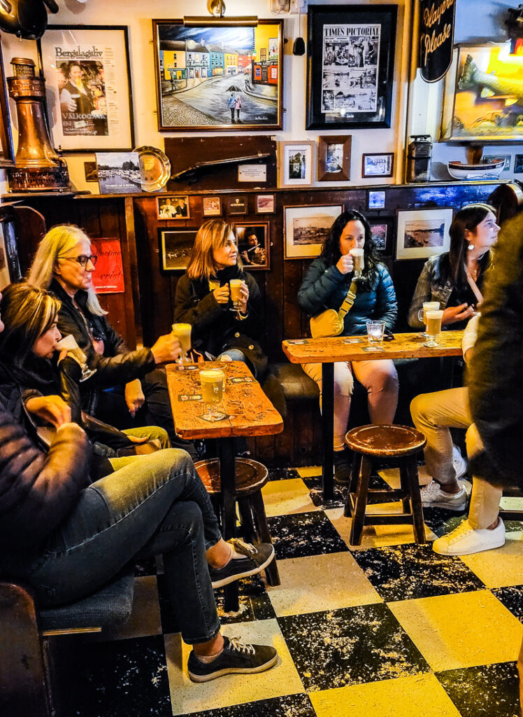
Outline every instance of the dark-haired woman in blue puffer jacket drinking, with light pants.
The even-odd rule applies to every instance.
[[[356,279],[355,299],[345,314],[342,336],[363,334],[368,319],[384,320],[391,331],[398,315],[393,282],[387,268],[375,254],[370,225],[363,214],[351,209],[342,212],[325,239],[320,256],[309,267],[298,292],[298,303],[310,315],[325,309],[340,309],[350,289],[354,262],[350,250],[363,249],[364,268]],[[304,364],[306,374],[322,387],[321,364]],[[398,404],[398,374],[393,361],[340,361],[334,366],[334,450],[335,478],[349,478],[348,452],[344,439],[352,393],[352,374],[368,391],[370,420],[392,423]]]

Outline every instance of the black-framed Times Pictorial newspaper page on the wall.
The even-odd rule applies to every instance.
[[[390,127],[397,5],[309,5],[307,129]]]

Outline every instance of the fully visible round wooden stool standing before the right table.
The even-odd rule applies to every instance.
[[[355,452],[344,511],[345,516],[352,516],[350,545],[361,545],[365,524],[376,526],[402,523],[413,526],[416,543],[426,543],[416,463],[416,454],[426,445],[423,433],[409,426],[393,424],[359,426],[347,433],[345,443]],[[390,458],[398,462],[400,489],[369,490],[373,458]],[[403,513],[365,515],[369,495],[375,498],[399,498]]]

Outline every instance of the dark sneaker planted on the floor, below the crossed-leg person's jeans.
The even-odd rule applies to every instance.
[[[278,653],[270,645],[243,645],[238,637],[224,636],[224,649],[211,663],[202,663],[191,650],[187,670],[193,682],[208,682],[231,673],[259,673],[275,665]]]

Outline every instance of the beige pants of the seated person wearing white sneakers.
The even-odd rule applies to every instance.
[[[420,394],[411,403],[414,425],[425,435],[425,462],[428,473],[441,483],[454,483],[456,471],[452,465],[452,437],[449,428],[465,428],[466,452],[469,456],[483,447],[481,437],[472,423],[469,409],[469,389],[448,389],[433,394]],[[472,481],[469,523],[474,530],[488,528],[499,513],[502,489],[474,476]]]

